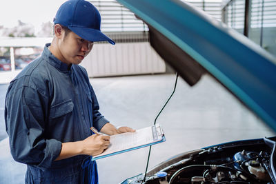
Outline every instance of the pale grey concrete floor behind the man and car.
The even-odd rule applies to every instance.
[[[100,111],[111,123],[139,129],[154,123],[172,92],[175,75],[110,77],[91,79],[91,83]],[[179,78],[177,90],[157,123],[164,128],[166,142],[152,146],[149,168],[170,156],[200,147],[275,135],[209,76],[193,88]],[[12,160],[8,139],[0,142],[0,149],[0,183],[23,183],[26,167]],[[119,183],[144,172],[147,155],[148,147],[100,159],[100,184]]]

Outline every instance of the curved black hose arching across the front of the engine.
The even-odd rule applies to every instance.
[[[213,170],[213,171],[222,170],[222,171],[237,172],[237,170],[233,168],[220,166],[220,165],[188,165],[186,167],[181,168],[177,172],[175,172],[175,174],[173,174],[172,177],[170,178],[169,184],[173,184],[173,182],[175,181],[175,178],[177,178],[177,176],[179,176],[179,174],[181,174],[182,172],[190,172],[195,170]],[[239,172],[242,172],[242,171],[239,171]],[[250,174],[247,174],[246,172],[242,172],[242,174],[247,178],[252,177],[250,176]],[[253,183],[257,183],[257,182],[253,182]]]

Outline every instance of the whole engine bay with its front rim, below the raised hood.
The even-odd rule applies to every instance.
[[[126,183],[275,183],[275,137],[236,141],[188,152]]]

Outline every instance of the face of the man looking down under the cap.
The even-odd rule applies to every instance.
[[[93,42],[79,37],[75,32],[62,30],[61,39],[59,40],[59,50],[61,52],[61,61],[70,64],[79,64],[86,57],[93,47]]]

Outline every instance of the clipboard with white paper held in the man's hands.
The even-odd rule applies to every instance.
[[[142,147],[155,145],[166,141],[161,125],[158,123],[150,127],[144,127],[136,132],[126,132],[110,136],[110,145],[101,154],[92,156],[91,161],[103,159],[108,156],[130,152]]]

